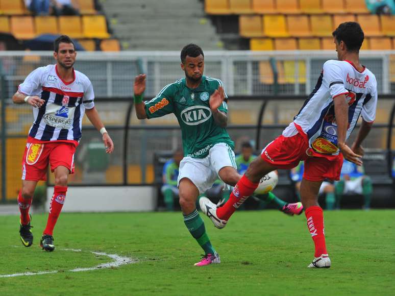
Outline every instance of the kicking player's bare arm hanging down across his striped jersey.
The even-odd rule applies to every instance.
[[[344,158],[348,161],[355,163],[356,165],[362,165],[360,155],[354,153],[347,144],[345,144],[345,138],[347,134],[347,127],[349,124],[349,105],[347,104],[347,100],[345,99],[345,95],[336,96],[334,99],[335,105],[335,117],[337,124],[337,143],[341,153]]]

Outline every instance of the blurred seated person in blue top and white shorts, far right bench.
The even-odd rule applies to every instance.
[[[364,175],[363,166],[358,166],[348,160],[343,161],[341,167],[340,181],[335,183],[336,187],[336,208],[340,208],[343,195],[362,194],[364,196],[365,210],[371,206],[373,186],[371,178]]]

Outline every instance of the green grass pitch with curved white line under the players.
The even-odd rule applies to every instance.
[[[203,216],[203,214],[201,214]],[[0,216],[1,295],[390,295],[395,288],[395,211],[325,212],[332,267],[308,269],[313,242],[304,215],[237,212],[223,230],[204,217],[221,264],[195,267],[202,250],[181,213],[61,214],[56,250],[39,248],[46,215],[33,216],[34,244],[22,246],[17,216]],[[81,249],[82,252],[63,249]],[[72,273],[112,261],[90,251],[137,258],[116,268]]]

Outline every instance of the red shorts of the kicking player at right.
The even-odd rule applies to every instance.
[[[307,135],[298,132],[291,137],[283,135],[270,142],[261,158],[280,169],[291,169],[305,161],[303,178],[309,181],[339,180],[343,156],[318,154],[311,150]]]

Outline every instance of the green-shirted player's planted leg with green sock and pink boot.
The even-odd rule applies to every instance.
[[[220,263],[219,255],[215,252],[207,235],[204,221],[196,210],[195,202],[199,196],[199,190],[188,178],[183,178],[179,183],[180,206],[184,215],[184,223],[193,238],[199,243],[205,252],[205,256],[196,266],[204,266],[211,263]]]

